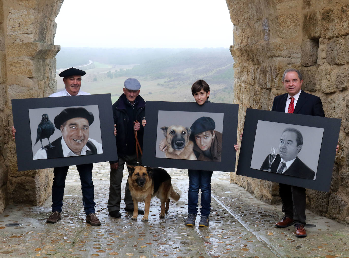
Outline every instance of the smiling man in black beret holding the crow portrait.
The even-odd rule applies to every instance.
[[[80,90],[81,76],[84,76],[85,74],[86,74],[85,71],[82,71],[73,67],[62,71],[61,73],[59,73],[59,76],[63,77],[65,88],[57,93],[51,94],[49,97],[90,95],[90,93],[83,92]],[[61,125],[59,125],[59,129],[61,130]],[[16,133],[16,130],[14,127],[12,127],[13,138],[15,138],[15,133]],[[62,141],[60,143],[62,143]],[[49,148],[47,149],[49,150]],[[47,156],[49,155],[50,154],[47,153]],[[53,185],[52,185],[52,205],[51,205],[52,213],[50,214],[50,217],[46,220],[46,222],[48,223],[56,223],[58,220],[61,220],[65,179],[67,177],[68,169],[69,169],[69,166],[54,167],[53,169],[54,177],[53,177]],[[76,169],[77,171],[79,171],[79,175],[80,175],[82,203],[84,205],[84,210],[86,213],[86,222],[94,226],[95,225],[99,226],[101,225],[101,222],[95,215],[96,203],[94,202],[95,186],[93,185],[93,182],[92,182],[92,164],[76,165]]]

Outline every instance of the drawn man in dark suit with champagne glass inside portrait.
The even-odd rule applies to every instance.
[[[314,179],[315,172],[297,157],[299,151],[302,149],[302,145],[302,133],[296,128],[288,127],[283,130],[279,144],[280,154],[276,155],[274,162],[270,166],[271,172],[292,175],[293,177]],[[269,155],[266,157],[260,169],[269,169]]]

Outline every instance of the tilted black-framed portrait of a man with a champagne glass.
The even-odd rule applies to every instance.
[[[328,191],[340,125],[336,118],[247,109],[237,174]]]

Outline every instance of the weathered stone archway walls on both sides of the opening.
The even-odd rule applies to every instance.
[[[226,0],[234,26],[235,101],[239,130],[246,108],[270,110],[283,93],[285,68],[300,69],[303,88],[321,97],[326,116],[342,118],[330,193],[307,191],[310,209],[349,222],[349,4],[347,0]],[[11,202],[40,205],[51,193],[49,170],[19,173],[11,99],[46,97],[56,90],[53,45],[63,0],[0,0],[0,213]],[[278,200],[275,183],[242,178],[236,182],[269,203]],[[15,194],[15,197],[14,197]]]

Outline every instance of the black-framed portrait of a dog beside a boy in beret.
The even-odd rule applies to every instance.
[[[237,104],[147,101],[143,165],[233,171]]]

